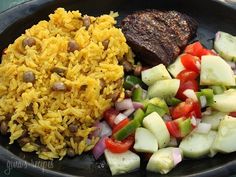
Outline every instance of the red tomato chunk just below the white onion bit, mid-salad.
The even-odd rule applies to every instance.
[[[171,116],[173,119],[187,116],[193,110],[193,100],[186,99],[185,102],[179,103],[171,111]]]

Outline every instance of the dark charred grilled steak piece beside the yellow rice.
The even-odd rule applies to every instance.
[[[128,15],[121,27],[132,50],[149,65],[172,63],[197,31],[197,23],[191,17],[159,10]]]

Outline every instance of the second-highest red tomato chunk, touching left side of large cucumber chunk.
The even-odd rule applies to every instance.
[[[201,60],[197,56],[184,54],[181,56],[181,62],[186,69],[199,73]]]

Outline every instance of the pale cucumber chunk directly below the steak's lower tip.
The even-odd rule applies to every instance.
[[[165,65],[159,64],[141,73],[142,81],[148,86],[154,84],[158,80],[171,79]]]

